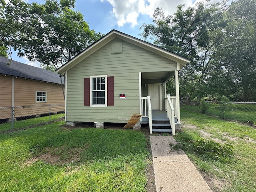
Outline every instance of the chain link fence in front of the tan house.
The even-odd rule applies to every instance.
[[[0,107],[0,131],[51,122],[64,113],[65,104]]]

